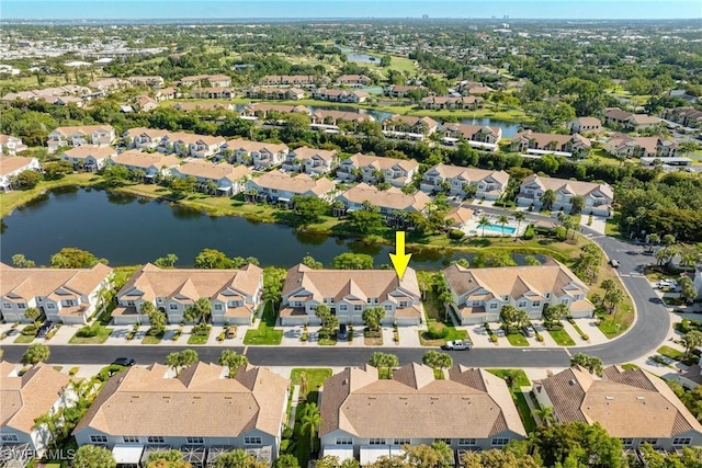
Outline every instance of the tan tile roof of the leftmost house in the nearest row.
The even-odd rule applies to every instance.
[[[29,434],[34,420],[56,403],[70,378],[46,364],[31,367],[22,377],[13,373],[14,365],[0,363],[0,427]]]

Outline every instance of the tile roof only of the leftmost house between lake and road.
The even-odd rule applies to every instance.
[[[112,269],[102,263],[92,269],[13,269],[0,263],[0,296],[31,299],[60,288],[87,296],[111,274]]]

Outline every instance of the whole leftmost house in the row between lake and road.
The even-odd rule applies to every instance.
[[[112,287],[112,269],[13,269],[0,263],[0,300],[8,322],[31,323],[36,307],[54,323],[84,324],[95,312],[99,294]]]

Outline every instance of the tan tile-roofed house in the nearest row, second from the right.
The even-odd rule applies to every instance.
[[[377,369],[347,367],[325,380],[319,437],[325,455],[369,465],[404,445],[445,442],[463,450],[501,449],[526,436],[505,381],[484,369],[454,366],[435,379],[412,363],[378,379]],[[440,414],[440,416],[437,416]]]

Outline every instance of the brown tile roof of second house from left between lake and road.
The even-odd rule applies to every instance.
[[[145,300],[154,300],[156,297],[170,298],[181,295],[195,301],[201,297],[215,298],[225,290],[252,296],[262,274],[263,271],[252,264],[241,270],[161,270],[147,263],[132,275],[117,293],[117,297],[139,296]]]

